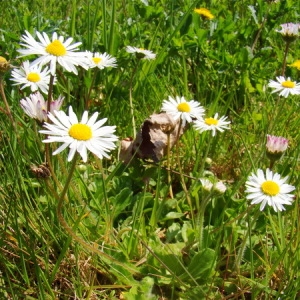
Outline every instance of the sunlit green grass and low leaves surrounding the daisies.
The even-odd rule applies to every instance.
[[[52,157],[55,176],[36,178],[31,167],[45,161],[43,136],[19,106],[30,91],[4,74],[14,122],[1,102],[1,299],[298,299],[299,96],[282,98],[266,85],[281,75],[284,60],[285,43],[275,30],[299,21],[300,4],[27,2],[0,3],[0,56],[13,66],[22,62],[17,49],[25,30],[57,31],[81,41],[82,50],[117,58],[115,69],[61,72],[53,94],[65,96],[63,110],[98,111],[117,125],[120,140],[129,137],[133,78],[137,131],[169,95],[199,101],[210,116],[227,115],[231,129],[214,138],[193,128],[184,133],[180,165],[176,147],[171,150],[174,197],[166,158],[125,165],[119,149],[109,160],[90,154],[86,164],[67,163],[65,150]],[[215,19],[200,18],[195,7],[210,9]],[[127,45],[157,57],[135,71]],[[299,58],[296,40],[287,64]],[[287,66],[285,75],[300,80],[295,68]],[[274,167],[296,187],[293,204],[281,213],[261,212],[246,200],[247,177],[269,166],[266,134],[290,142]],[[226,192],[207,195],[198,180],[204,176],[222,180]]]

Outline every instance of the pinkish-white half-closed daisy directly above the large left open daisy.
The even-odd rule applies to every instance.
[[[63,100],[64,97],[60,96],[57,100],[51,101],[50,112],[53,113],[54,110],[59,110]],[[47,121],[47,101],[45,101],[44,97],[39,92],[22,99],[20,105],[26,115],[30,118],[36,119],[41,123]]]

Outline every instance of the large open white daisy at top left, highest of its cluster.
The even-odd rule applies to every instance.
[[[76,52],[81,43],[72,44],[73,38],[69,37],[64,40],[63,36],[58,36],[56,32],[52,34],[52,39],[43,32],[36,32],[39,41],[36,41],[33,36],[25,31],[21,38],[21,45],[26,49],[19,49],[18,52],[22,56],[39,55],[39,58],[33,61],[33,65],[45,65],[50,63],[50,72],[55,75],[56,64],[60,64],[68,72],[78,74],[75,66],[87,68],[86,57],[83,52]]]

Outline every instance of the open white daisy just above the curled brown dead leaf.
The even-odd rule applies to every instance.
[[[186,101],[184,97],[178,96],[175,99],[169,96],[168,100],[164,100],[161,110],[171,115],[175,121],[180,118],[183,127],[187,122],[192,122],[193,118],[202,119],[204,114],[204,108],[200,106],[199,102]]]

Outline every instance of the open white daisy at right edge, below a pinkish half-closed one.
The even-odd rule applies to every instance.
[[[278,76],[276,79],[277,81],[270,80],[268,84],[268,87],[274,88],[272,93],[280,92],[279,96],[283,96],[285,98],[287,98],[289,94],[300,94],[300,83],[291,81],[290,77],[285,79],[283,76]]]

